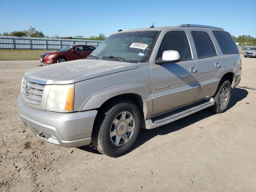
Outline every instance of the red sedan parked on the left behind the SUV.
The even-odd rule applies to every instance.
[[[90,45],[69,45],[57,51],[43,53],[40,56],[40,62],[44,64],[54,64],[84,59],[89,56],[94,49],[96,49],[96,47]]]

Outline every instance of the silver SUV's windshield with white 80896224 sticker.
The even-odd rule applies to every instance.
[[[109,36],[91,54],[102,60],[146,62],[158,31],[123,32]]]

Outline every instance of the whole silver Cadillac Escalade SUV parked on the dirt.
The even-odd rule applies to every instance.
[[[237,46],[222,28],[182,24],[110,35],[84,60],[24,74],[18,112],[39,138],[127,153],[152,129],[228,106],[241,78]]]

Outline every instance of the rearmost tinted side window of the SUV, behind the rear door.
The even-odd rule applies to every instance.
[[[229,33],[223,31],[213,31],[213,34],[218,41],[223,54],[238,53],[236,44]]]

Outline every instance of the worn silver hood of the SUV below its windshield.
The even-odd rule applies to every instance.
[[[138,63],[81,59],[29,70],[25,76],[46,84],[69,84],[138,68]]]

